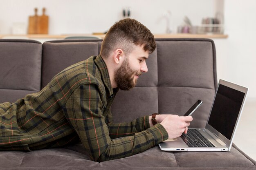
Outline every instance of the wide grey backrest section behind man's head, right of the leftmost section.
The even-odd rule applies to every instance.
[[[42,88],[60,71],[100,52],[102,40],[59,40],[43,44]],[[119,91],[111,107],[114,122],[140,116],[183,115],[198,99],[203,104],[191,127],[204,127],[216,86],[216,53],[209,39],[156,39],[146,61],[148,73],[135,88]]]

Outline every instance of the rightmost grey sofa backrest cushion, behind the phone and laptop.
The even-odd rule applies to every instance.
[[[198,100],[191,127],[204,128],[217,87],[216,53],[212,40],[157,41],[159,113],[184,115]]]

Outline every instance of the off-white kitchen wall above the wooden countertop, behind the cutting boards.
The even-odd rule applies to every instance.
[[[0,34],[10,34],[13,22],[28,24],[29,15],[46,7],[49,34],[105,32],[122,19],[123,7],[131,7],[131,18],[153,33],[165,33],[167,10],[172,13],[171,28],[176,31],[185,15],[193,24],[215,15],[214,0],[0,0]]]

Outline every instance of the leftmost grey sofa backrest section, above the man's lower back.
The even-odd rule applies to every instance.
[[[0,103],[40,91],[41,61],[40,42],[0,39]]]

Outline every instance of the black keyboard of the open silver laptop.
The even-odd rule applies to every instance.
[[[187,134],[183,133],[180,137],[189,147],[215,147],[196,129],[189,129]]]

